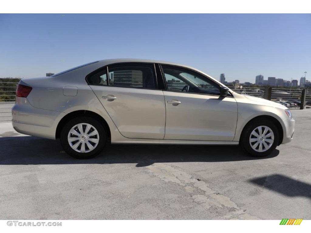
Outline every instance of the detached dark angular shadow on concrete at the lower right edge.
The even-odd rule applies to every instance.
[[[289,197],[308,197],[311,198],[311,185],[295,180],[293,178],[273,174],[249,180],[249,182],[278,192]]]

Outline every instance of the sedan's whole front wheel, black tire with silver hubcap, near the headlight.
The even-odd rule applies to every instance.
[[[248,123],[241,135],[240,146],[253,157],[272,153],[279,141],[279,132],[272,121],[258,119]]]

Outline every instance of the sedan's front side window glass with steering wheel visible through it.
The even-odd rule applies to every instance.
[[[169,91],[220,95],[220,86],[207,77],[188,69],[162,65]]]

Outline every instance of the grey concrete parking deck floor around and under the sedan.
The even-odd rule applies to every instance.
[[[271,156],[238,146],[110,145],[77,160],[0,124],[0,219],[311,219],[311,110]]]

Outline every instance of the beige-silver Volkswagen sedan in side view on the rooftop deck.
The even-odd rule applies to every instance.
[[[110,59],[22,79],[12,125],[22,134],[59,138],[69,155],[82,159],[109,141],[239,144],[263,157],[292,140],[295,121],[288,107],[235,93],[190,66]]]

